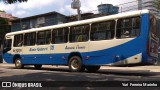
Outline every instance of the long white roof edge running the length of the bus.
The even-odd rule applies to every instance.
[[[81,20],[81,21],[75,21],[75,22],[70,22],[70,23],[46,26],[46,27],[41,27],[41,28],[32,28],[32,29],[28,29],[28,30],[7,33],[6,36],[14,35],[14,34],[21,34],[21,33],[35,32],[35,31],[42,31],[42,30],[49,30],[49,29],[54,29],[54,28],[70,27],[70,26],[81,25],[81,24],[90,24],[93,22],[100,22],[100,21],[104,21],[104,20],[114,20],[114,19],[123,18],[123,17],[138,16],[138,15],[145,14],[145,13],[149,13],[149,10],[138,10],[138,11],[124,12],[124,13],[118,13],[118,14],[114,14],[114,15],[103,16],[103,17],[92,18],[92,19]]]

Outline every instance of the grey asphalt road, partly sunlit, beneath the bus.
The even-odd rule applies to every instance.
[[[160,81],[159,66],[142,67],[107,67],[103,66],[96,73],[70,72],[66,66],[45,65],[41,70],[35,70],[33,66],[26,66],[24,69],[15,69],[13,64],[0,64],[0,81]],[[8,88],[2,88],[7,90]],[[33,88],[32,88],[33,89]],[[31,90],[32,90],[31,89]],[[42,88],[39,88],[42,89]],[[47,88],[53,90],[51,88]],[[77,89],[56,87],[55,89]],[[79,89],[79,88],[78,88]],[[111,90],[107,87],[97,89],[96,87],[81,87],[81,89]],[[112,87],[112,89],[114,89]],[[144,87],[141,89],[143,90]],[[147,90],[148,88],[145,88]],[[10,89],[8,89],[10,90]],[[16,89],[15,89],[16,90]],[[30,90],[30,89],[27,89]],[[37,90],[37,88],[36,88]],[[80,90],[80,89],[79,89]],[[115,88],[116,90],[116,88]],[[131,90],[123,88],[123,90]],[[151,90],[149,88],[148,90]],[[152,90],[159,90],[153,87]]]

